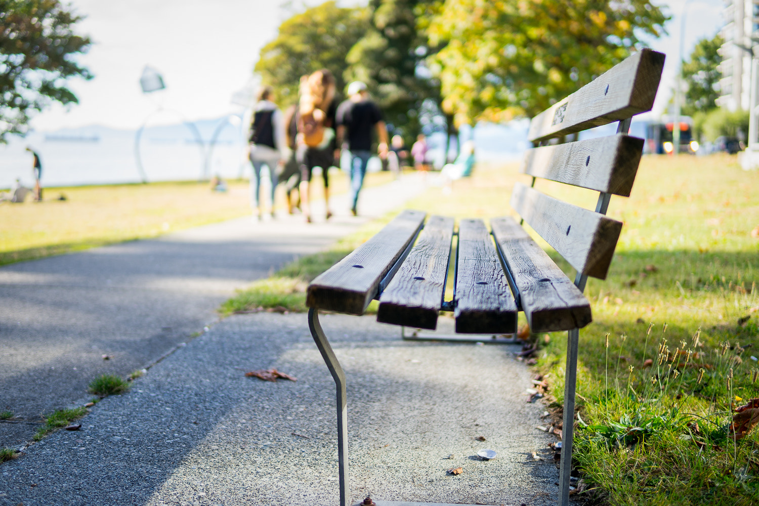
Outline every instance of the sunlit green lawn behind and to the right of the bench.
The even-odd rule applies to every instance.
[[[515,181],[529,181],[516,164],[478,165],[450,193],[433,186],[407,207],[457,218],[512,214]],[[536,186],[585,207],[597,200],[549,181]],[[630,198],[614,196],[609,215],[624,222],[622,236],[608,278],[587,283],[594,322],[580,333],[580,497],[759,503],[759,429],[745,430],[759,422],[759,401],[750,401],[759,398],[759,171],[742,171],[735,156],[645,156]],[[222,313],[304,310],[307,281],[387,219],[254,284]],[[557,429],[565,336],[534,336],[536,372],[546,379]]]

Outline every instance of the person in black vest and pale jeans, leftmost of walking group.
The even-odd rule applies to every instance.
[[[272,181],[269,213],[274,218],[274,193],[277,187],[277,168],[283,159],[287,159],[287,141],[285,140],[285,121],[282,112],[272,102],[272,86],[263,86],[258,93],[253,120],[250,122],[250,163],[253,176],[250,178],[250,206],[254,218],[263,218],[260,206],[261,168],[269,168]]]

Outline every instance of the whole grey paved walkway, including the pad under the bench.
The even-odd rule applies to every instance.
[[[378,188],[377,202],[395,207],[417,182]],[[8,392],[31,412],[85,401],[84,386],[101,370],[130,372],[187,342],[131,392],[93,407],[80,431],[55,432],[0,464],[0,505],[337,504],[334,383],[306,316],[216,322],[213,314],[233,288],[293,254],[323,249],[360,222],[336,218],[287,228],[228,222],[0,269],[3,307],[28,292],[0,320],[12,337],[0,357],[3,404]],[[284,232],[291,226],[297,234]],[[24,314],[28,323],[14,327],[7,314]],[[21,330],[31,322],[36,332]],[[348,375],[354,501],[371,494],[381,501],[555,503],[552,438],[534,428],[542,407],[525,402],[530,374],[512,357],[513,346],[402,341],[397,327],[372,316],[326,315],[322,323]],[[26,361],[15,355],[22,353]],[[103,362],[102,354],[115,358]],[[6,363],[15,374],[6,376]],[[244,376],[272,366],[298,381]],[[56,377],[71,385],[48,394]],[[24,401],[37,394],[42,401]],[[480,460],[483,448],[498,457]],[[534,460],[534,451],[545,460]],[[464,473],[446,475],[453,467]]]

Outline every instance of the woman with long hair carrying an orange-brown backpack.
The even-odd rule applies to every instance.
[[[335,165],[335,77],[326,68],[301,77],[301,97],[298,100],[297,158],[301,165],[301,210],[306,222],[311,222],[311,176],[314,167],[322,169],[326,218],[329,210],[329,168]]]

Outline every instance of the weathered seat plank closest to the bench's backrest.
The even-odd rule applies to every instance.
[[[532,332],[582,328],[593,320],[591,303],[524,228],[509,217],[493,218],[490,226]]]

